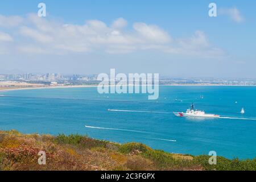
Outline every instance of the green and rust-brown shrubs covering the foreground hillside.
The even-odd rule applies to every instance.
[[[46,151],[46,165],[38,152]],[[256,159],[170,154],[141,143],[118,144],[81,135],[56,137],[0,131],[0,170],[256,170]]]

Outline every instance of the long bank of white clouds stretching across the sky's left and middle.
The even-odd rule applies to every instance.
[[[9,17],[5,17],[9,18]],[[22,18],[20,18],[22,19]],[[146,23],[133,23],[123,29],[123,18],[114,20],[110,26],[100,20],[88,20],[84,24],[63,24],[30,14],[22,24],[10,29],[15,34],[15,50],[22,53],[68,54],[104,51],[106,53],[129,53],[156,50],[176,54],[221,55],[221,49],[209,43],[204,32],[196,31],[191,38],[172,38],[162,28]],[[4,36],[3,36],[4,37]],[[1,34],[0,34],[1,40]],[[8,40],[7,37],[5,40]],[[8,47],[12,49],[12,47]],[[11,52],[11,51],[10,51]]]

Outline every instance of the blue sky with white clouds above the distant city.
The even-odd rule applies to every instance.
[[[46,4],[46,17],[38,4]],[[217,16],[208,7],[216,3]],[[256,78],[256,2],[0,2],[0,73]]]

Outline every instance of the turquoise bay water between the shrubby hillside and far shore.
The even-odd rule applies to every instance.
[[[79,133],[181,154],[216,151],[230,159],[256,156],[256,87],[160,86],[155,101],[147,100],[146,94],[98,94],[97,88],[13,90],[0,95],[0,130]],[[192,102],[197,109],[225,118],[172,114],[185,111]]]

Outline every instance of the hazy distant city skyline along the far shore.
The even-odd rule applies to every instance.
[[[64,85],[97,85],[101,81],[98,75],[62,75],[61,73],[20,73],[20,74],[0,74],[0,84],[5,85],[9,82],[15,83],[37,83],[52,86]],[[115,82],[119,82],[115,78]],[[203,78],[203,77],[159,77],[159,85],[241,85],[255,86],[255,78]]]

